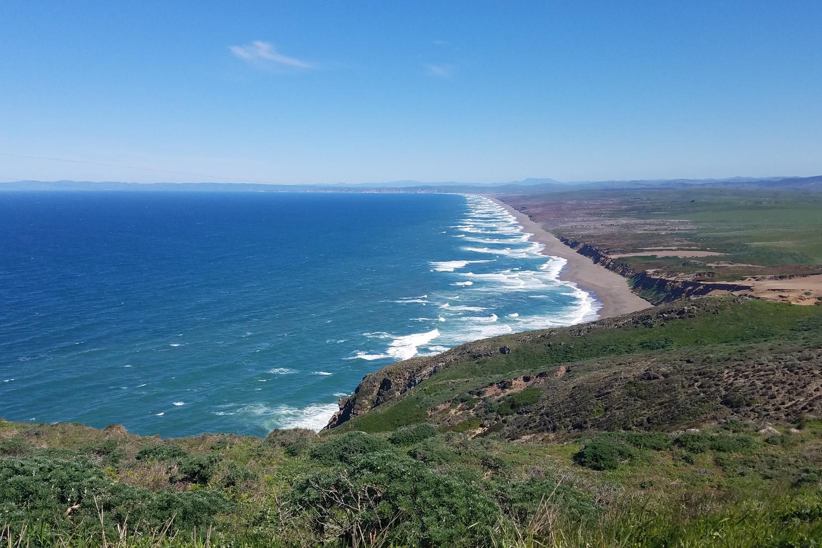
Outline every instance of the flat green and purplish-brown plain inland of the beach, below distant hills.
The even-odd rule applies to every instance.
[[[502,196],[552,231],[618,253],[685,246],[723,256],[625,257],[639,272],[714,279],[822,272],[822,195],[795,191],[578,191]],[[732,265],[713,265],[719,260]]]

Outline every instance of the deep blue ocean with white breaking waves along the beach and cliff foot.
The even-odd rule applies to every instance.
[[[0,194],[0,417],[162,436],[325,426],[363,375],[596,317],[450,194]]]

